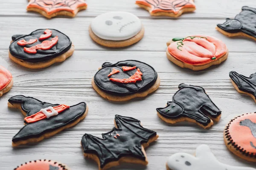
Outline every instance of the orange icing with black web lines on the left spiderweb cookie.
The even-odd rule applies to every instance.
[[[84,0],[30,0],[27,8],[38,8],[51,15],[58,11],[74,14],[76,9],[82,6],[87,6]]]

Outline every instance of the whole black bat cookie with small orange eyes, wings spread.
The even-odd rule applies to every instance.
[[[99,170],[118,166],[121,162],[148,164],[144,148],[157,140],[155,131],[140,125],[131,117],[115,116],[113,130],[102,134],[102,139],[90,134],[82,137],[84,156],[95,160]]]

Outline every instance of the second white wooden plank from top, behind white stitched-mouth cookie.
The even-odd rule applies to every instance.
[[[12,22],[9,22],[9,20],[12,20]],[[248,38],[228,38],[215,30],[216,24],[223,23],[224,20],[157,20],[157,24],[154,25],[152,20],[142,19],[145,26],[145,36],[143,39],[135,45],[120,49],[105,48],[93,42],[88,33],[88,26],[91,20],[92,18],[80,17],[73,19],[55,18],[47,20],[46,23],[44,18],[4,17],[0,20],[2,29],[0,32],[0,49],[9,48],[9,42],[13,34],[29,34],[39,28],[55,28],[70,37],[76,50],[166,51],[166,42],[174,37],[203,34],[223,40],[230,52],[256,52],[256,48],[252,48],[255,45],[253,40]]]

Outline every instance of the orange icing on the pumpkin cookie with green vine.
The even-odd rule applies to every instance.
[[[227,46],[215,37],[195,35],[183,40],[182,47],[177,48],[177,42],[168,46],[169,53],[176,59],[191,65],[204,65],[219,59],[227,53]],[[206,37],[206,38],[198,38]],[[212,59],[216,57],[216,59]]]

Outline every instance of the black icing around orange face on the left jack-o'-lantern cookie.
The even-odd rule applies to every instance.
[[[52,31],[52,36],[45,40],[50,41],[53,37],[58,36],[57,44],[54,45],[49,50],[38,50],[36,54],[26,53],[24,51],[24,47],[29,48],[29,47],[41,44],[44,41],[44,40],[38,40],[38,39],[42,34],[44,34],[45,30],[46,29],[38,29],[36,31],[33,31],[29,35],[20,35],[20,34],[13,35],[12,36],[13,42],[9,46],[9,51],[12,54],[12,56],[14,56],[18,59],[22,59],[27,62],[41,62],[41,61],[45,61],[48,59],[52,59],[61,54],[64,54],[71,48],[72,42],[69,39],[69,37],[67,37],[67,35],[63,34],[62,32],[60,32],[58,30],[50,29]],[[19,40],[23,40],[23,39],[26,41],[29,41],[30,39],[37,39],[38,41],[33,44],[25,45],[25,46],[17,45],[17,42]]]

